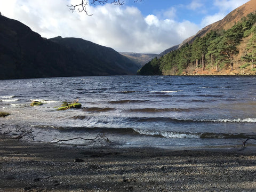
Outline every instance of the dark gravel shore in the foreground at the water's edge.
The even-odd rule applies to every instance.
[[[256,191],[256,151],[67,147],[0,139],[0,191]]]

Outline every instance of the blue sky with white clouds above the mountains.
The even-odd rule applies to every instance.
[[[45,38],[77,37],[118,52],[159,54],[249,0],[112,1],[89,3],[92,16],[69,10],[81,0],[1,0],[0,12]]]

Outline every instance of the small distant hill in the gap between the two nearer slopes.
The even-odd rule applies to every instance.
[[[157,54],[153,53],[129,53],[129,52],[119,52],[130,60],[134,61],[137,66],[140,68],[145,65],[147,62],[157,57]]]

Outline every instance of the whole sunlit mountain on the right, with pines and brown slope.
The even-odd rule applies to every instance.
[[[256,1],[251,0],[186,39],[178,49],[146,63],[138,74],[256,75],[255,47]]]

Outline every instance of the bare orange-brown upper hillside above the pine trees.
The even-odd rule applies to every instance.
[[[241,18],[246,17],[247,14],[253,13],[256,11],[256,1],[251,0],[245,3],[242,6],[239,6],[234,11],[231,11],[225,18],[215,23],[212,23],[209,26],[204,27],[203,29],[199,30],[196,35],[191,36],[185,41],[183,41],[179,47],[182,47],[186,43],[191,44],[197,37],[204,37],[207,33],[211,30],[213,31],[220,31],[222,29],[227,30],[230,29],[232,26],[235,25],[236,22],[240,21]]]

